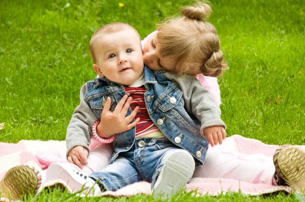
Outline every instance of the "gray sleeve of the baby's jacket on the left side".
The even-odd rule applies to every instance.
[[[80,105],[74,110],[67,128],[66,144],[67,154],[76,146],[83,146],[89,152],[90,139],[93,136],[92,126],[98,120],[92,109],[84,100],[86,84],[80,90]]]

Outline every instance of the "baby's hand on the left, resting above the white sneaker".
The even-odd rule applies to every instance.
[[[88,151],[83,146],[76,146],[70,150],[68,154],[68,162],[76,164],[80,169],[83,165],[88,164],[87,162]]]

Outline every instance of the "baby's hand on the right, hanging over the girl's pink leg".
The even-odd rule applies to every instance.
[[[217,142],[221,145],[222,141],[226,139],[226,130],[221,125],[204,128],[203,132],[207,142],[211,144],[212,147],[217,145]]]

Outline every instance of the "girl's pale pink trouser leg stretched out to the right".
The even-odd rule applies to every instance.
[[[225,178],[255,184],[277,185],[273,175],[275,166],[271,157],[263,154],[246,155],[238,152],[207,151],[202,167],[197,167],[193,177]]]

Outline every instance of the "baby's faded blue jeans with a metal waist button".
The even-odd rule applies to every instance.
[[[154,187],[167,157],[177,149],[169,140],[136,139],[128,152],[122,152],[100,172],[89,175],[107,191],[116,191],[129,184],[147,181]]]

